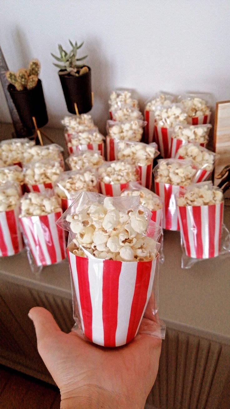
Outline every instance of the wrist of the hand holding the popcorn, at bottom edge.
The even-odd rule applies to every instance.
[[[130,397],[120,396],[95,385],[87,385],[72,393],[61,393],[60,409],[142,409]]]

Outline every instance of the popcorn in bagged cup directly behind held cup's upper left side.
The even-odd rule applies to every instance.
[[[67,171],[56,181],[54,191],[57,196],[63,199],[76,197],[76,192],[89,191],[97,192],[97,179],[93,171],[84,172]]]

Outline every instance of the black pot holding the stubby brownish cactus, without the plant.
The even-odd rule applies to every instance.
[[[7,89],[25,128],[35,129],[32,117],[35,117],[38,128],[47,124],[48,116],[40,79],[32,90],[17,91],[12,84]]]

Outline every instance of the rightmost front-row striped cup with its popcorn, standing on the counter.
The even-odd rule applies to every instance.
[[[220,253],[223,192],[212,182],[191,185],[176,198],[186,256],[212,258]],[[229,236],[229,232],[228,232]]]

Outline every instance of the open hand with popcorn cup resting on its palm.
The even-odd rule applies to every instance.
[[[144,407],[156,379],[161,339],[139,333],[130,344],[109,349],[63,333],[45,308],[32,308],[29,317],[38,352],[60,389],[62,409]]]

